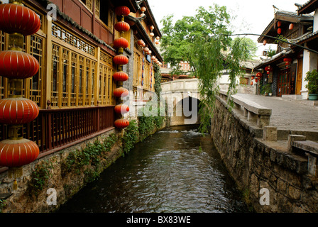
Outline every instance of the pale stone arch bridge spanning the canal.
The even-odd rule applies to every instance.
[[[202,100],[198,79],[177,79],[161,84],[162,98],[168,105],[170,126],[199,123],[199,103]]]

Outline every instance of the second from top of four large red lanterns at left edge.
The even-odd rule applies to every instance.
[[[6,50],[0,52],[0,75],[7,78],[33,77],[39,70],[35,57],[26,52]]]

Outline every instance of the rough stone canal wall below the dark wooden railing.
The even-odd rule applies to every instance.
[[[111,163],[121,157],[122,149],[119,143],[115,143],[109,152],[102,153],[98,166],[91,164],[84,165],[81,171],[71,170],[63,173],[63,163],[65,163],[67,156],[75,150],[87,147],[88,144],[92,144],[96,140],[102,141],[114,133],[116,133],[116,130],[86,140],[83,143],[78,143],[75,146],[61,150],[58,153],[53,153],[32,162],[30,165],[24,166],[23,176],[18,178],[18,189],[16,191],[12,189],[13,179],[8,177],[8,172],[1,173],[0,194],[9,193],[11,196],[4,199],[6,206],[2,207],[2,209],[0,207],[0,211],[3,213],[48,213],[58,209],[61,204],[64,204],[94,177],[89,175],[89,173],[100,174]],[[47,176],[49,176],[48,179],[45,179],[44,175],[38,176],[38,178],[42,177],[40,180],[45,181],[43,189],[40,190],[30,187],[31,179],[35,177],[32,174],[37,167],[45,167],[43,170],[48,171]],[[50,196],[50,194],[47,194],[48,189],[56,191],[57,205],[47,203],[48,196]]]

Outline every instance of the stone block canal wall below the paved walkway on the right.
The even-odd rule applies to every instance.
[[[307,159],[282,151],[258,134],[235,111],[230,113],[223,100],[216,101],[212,139],[254,211],[317,212],[318,179],[307,174]],[[285,140],[280,143],[287,145]],[[261,205],[265,194],[269,204]]]

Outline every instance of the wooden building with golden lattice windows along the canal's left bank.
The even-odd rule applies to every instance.
[[[129,43],[124,50],[129,59],[124,87],[154,92],[153,61],[136,44],[143,39],[151,55],[163,61],[154,45],[161,33],[148,1],[26,0],[23,4],[41,21],[40,30],[24,39],[24,51],[38,60],[40,70],[23,80],[23,96],[40,107],[38,118],[23,126],[23,137],[38,144],[39,157],[114,129],[116,82],[112,76],[117,52],[113,43],[121,35],[114,29],[121,20],[114,13],[116,6],[128,6],[131,11],[125,18],[131,29],[122,34]],[[0,31],[0,51],[8,48],[9,35]],[[8,93],[8,79],[1,77],[1,99]],[[0,126],[0,137],[7,138],[5,125]]]

